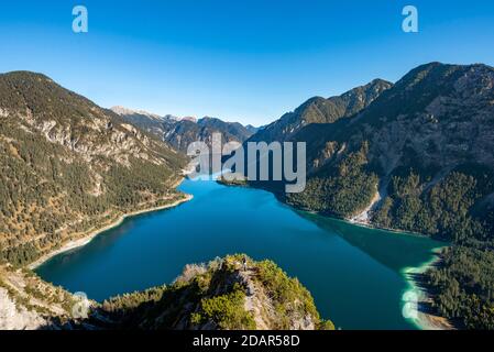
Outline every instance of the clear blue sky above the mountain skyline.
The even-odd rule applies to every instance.
[[[72,31],[76,4],[87,34]],[[417,34],[402,31],[406,4]],[[424,63],[494,65],[494,1],[1,1],[0,43],[0,72],[44,73],[103,107],[260,125]]]

